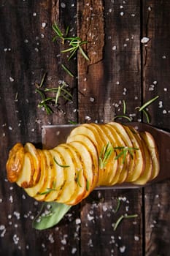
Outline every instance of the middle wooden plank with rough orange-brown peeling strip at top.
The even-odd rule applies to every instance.
[[[123,99],[127,114],[134,114],[141,105],[140,1],[78,1],[77,12],[80,37],[88,40],[85,50],[92,56],[90,61],[78,59],[80,122],[112,121],[123,114]],[[103,201],[87,199],[82,205],[81,255],[142,255],[142,190],[108,190],[91,196],[98,198],[98,193]],[[125,206],[114,214],[117,197],[125,198],[128,213],[137,213],[138,218],[114,231],[114,222],[125,214]]]

